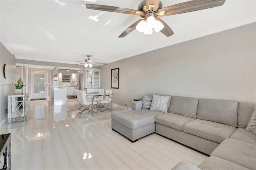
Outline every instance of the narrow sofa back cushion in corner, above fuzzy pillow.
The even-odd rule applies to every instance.
[[[242,101],[238,103],[238,128],[246,128],[255,107],[256,103],[254,102]]]

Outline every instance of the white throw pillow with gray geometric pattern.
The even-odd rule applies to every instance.
[[[170,96],[153,95],[149,110],[167,113],[169,97]]]

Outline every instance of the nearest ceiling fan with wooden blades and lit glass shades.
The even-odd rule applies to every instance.
[[[135,28],[139,32],[144,32],[144,34],[150,35],[153,32],[160,31],[162,32],[162,34],[169,37],[172,36],[174,32],[162,19],[159,18],[159,16],[162,17],[197,10],[204,10],[207,8],[222,6],[224,2],[225,0],[191,0],[188,2],[183,2],[180,4],[175,4],[162,8],[162,2],[160,0],[143,0],[138,6],[138,10],[97,4],[86,4],[86,8],[92,10],[138,15],[143,18],[128,27],[119,36],[119,38],[127,36],[128,34],[130,34],[130,32],[135,30]]]

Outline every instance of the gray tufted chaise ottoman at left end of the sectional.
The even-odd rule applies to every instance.
[[[154,133],[155,117],[142,111],[124,110],[111,113],[112,130],[126,136],[131,142]]]

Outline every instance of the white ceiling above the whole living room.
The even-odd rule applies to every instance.
[[[84,61],[89,54],[95,62],[110,63],[256,22],[256,0],[226,0],[216,8],[162,17],[173,36],[134,30],[118,38],[140,16],[90,10],[85,4],[137,10],[142,0],[91,1],[0,0],[0,40],[17,59],[77,64],[69,60]],[[166,7],[186,1],[161,2]]]

